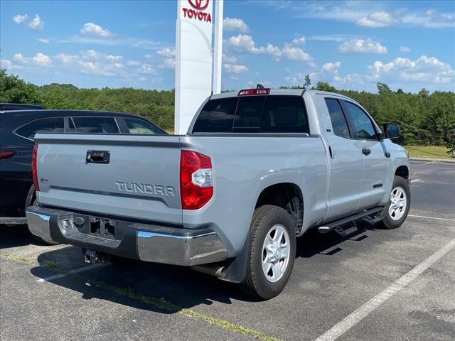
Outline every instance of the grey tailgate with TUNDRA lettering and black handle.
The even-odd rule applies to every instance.
[[[37,134],[38,202],[96,215],[182,224],[179,139]]]

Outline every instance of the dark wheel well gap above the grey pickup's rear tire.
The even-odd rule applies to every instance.
[[[304,197],[295,183],[277,183],[262,190],[256,207],[276,205],[287,210],[296,221],[296,233],[301,231],[304,222]]]

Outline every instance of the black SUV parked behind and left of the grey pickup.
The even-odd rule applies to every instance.
[[[5,104],[0,110],[0,222],[26,222],[25,207],[33,205],[31,156],[36,133],[167,134],[134,114],[12,107]]]

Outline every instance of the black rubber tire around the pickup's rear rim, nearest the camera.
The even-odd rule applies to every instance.
[[[295,221],[282,207],[264,205],[255,210],[250,226],[250,249],[247,256],[247,271],[245,280],[241,284],[242,291],[252,298],[267,300],[281,293],[291,276],[294,260],[296,258],[296,229]],[[277,261],[287,264],[281,277],[271,282],[262,270],[262,262],[267,259],[267,253],[263,253],[264,240],[274,227],[284,227],[289,237],[289,257],[286,261]],[[282,239],[285,240],[285,239]],[[281,245],[282,240],[278,243]],[[277,258],[281,258],[279,254]],[[264,261],[264,264],[267,262]],[[276,263],[275,263],[276,264]],[[278,271],[277,271],[278,272]]]

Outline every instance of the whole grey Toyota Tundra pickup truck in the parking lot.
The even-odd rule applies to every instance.
[[[296,237],[399,227],[410,207],[407,152],[357,102],[264,88],[210,96],[188,134],[37,134],[31,232],[279,294]]]

